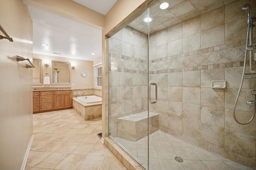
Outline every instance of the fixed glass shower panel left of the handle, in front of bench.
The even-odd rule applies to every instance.
[[[147,8],[108,38],[108,131],[119,146],[148,169],[148,33],[147,23],[143,22],[146,14]],[[140,27],[131,28],[136,25]]]

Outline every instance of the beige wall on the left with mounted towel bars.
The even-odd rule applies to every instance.
[[[32,20],[21,0],[1,0],[1,26],[13,42],[0,40],[0,169],[18,170],[32,137]]]

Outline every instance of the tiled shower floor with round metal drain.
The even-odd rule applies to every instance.
[[[135,142],[120,137],[114,140],[148,169],[148,137]],[[180,156],[184,161],[177,162],[175,156]],[[150,134],[149,157],[150,170],[251,170],[160,130]]]

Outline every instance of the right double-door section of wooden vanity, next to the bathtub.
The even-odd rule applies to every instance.
[[[71,107],[71,92],[70,90],[54,92],[54,109]]]

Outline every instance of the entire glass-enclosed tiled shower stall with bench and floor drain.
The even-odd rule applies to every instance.
[[[255,15],[255,0],[154,0],[106,40],[108,136],[143,168],[256,168],[256,120],[233,118],[250,70],[245,4]],[[240,122],[254,89],[244,79]]]

